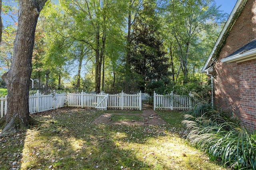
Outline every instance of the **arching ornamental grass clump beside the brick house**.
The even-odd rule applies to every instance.
[[[193,146],[225,167],[256,169],[256,132],[251,134],[236,119],[209,105],[197,105],[189,113],[182,124],[190,131],[187,140]]]

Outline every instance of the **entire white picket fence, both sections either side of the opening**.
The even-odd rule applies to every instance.
[[[123,91],[115,95],[105,93],[88,94],[84,93],[52,93],[42,95],[37,91],[29,96],[29,112],[36,113],[57,109],[60,107],[86,107],[96,108],[99,110],[108,109],[132,109],[141,110],[142,100],[148,100],[149,95],[146,93],[137,93],[134,95],[126,94]],[[168,95],[159,95],[154,92],[154,110],[186,110],[194,105],[191,97],[180,96],[170,93]],[[7,112],[7,99],[0,97],[0,117]]]

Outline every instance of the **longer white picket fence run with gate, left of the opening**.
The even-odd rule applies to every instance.
[[[29,96],[29,113],[49,111],[60,107],[87,107],[99,110],[109,109],[132,109],[141,110],[142,93],[129,95],[123,91],[116,95],[106,93],[62,93],[53,92],[50,95],[42,95],[39,91]],[[0,97],[0,117],[7,112],[7,96]]]

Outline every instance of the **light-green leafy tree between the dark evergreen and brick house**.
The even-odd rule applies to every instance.
[[[169,30],[176,40],[176,54],[184,75],[183,83],[188,83],[189,60],[195,56],[193,48],[200,45],[200,36],[206,32],[211,34],[223,14],[213,0],[168,1],[166,7],[167,23],[170,23]]]

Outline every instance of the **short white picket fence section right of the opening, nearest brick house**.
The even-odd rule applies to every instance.
[[[167,95],[159,95],[154,92],[154,110],[187,110],[194,104],[191,94],[184,96],[172,92]]]

